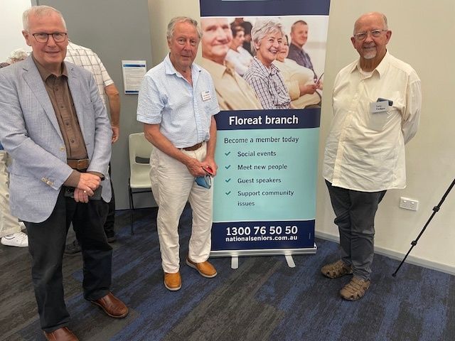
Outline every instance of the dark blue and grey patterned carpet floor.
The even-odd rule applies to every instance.
[[[338,244],[316,241],[316,255],[212,259],[215,278],[203,278],[184,264],[191,212],[181,219],[183,286],[163,285],[156,211],[137,210],[135,234],[129,212],[117,215],[112,291],[129,305],[113,320],[82,298],[80,256],[65,256],[65,296],[70,328],[80,340],[455,340],[455,277],[375,256],[372,285],[360,301],[343,301],[339,289],[349,276],[331,280],[321,265],[336,260]],[[36,312],[26,250],[0,248],[0,340],[45,340]]]

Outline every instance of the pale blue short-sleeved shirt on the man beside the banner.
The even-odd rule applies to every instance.
[[[137,120],[160,124],[161,134],[176,148],[208,141],[211,118],[220,112],[210,74],[193,63],[191,75],[193,86],[167,55],[146,73],[139,90]]]

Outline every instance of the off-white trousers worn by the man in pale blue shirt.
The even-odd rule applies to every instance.
[[[204,143],[197,151],[184,151],[188,156],[203,161],[207,151]],[[198,185],[183,163],[171,158],[158,148],[150,157],[151,190],[158,204],[158,228],[161,261],[164,272],[174,274],[180,266],[178,221],[186,202],[193,210],[193,223],[188,257],[200,263],[210,254],[212,229],[213,188]]]

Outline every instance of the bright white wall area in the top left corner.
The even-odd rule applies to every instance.
[[[12,50],[23,48],[30,51],[23,36],[22,13],[31,6],[31,0],[1,1],[0,62],[6,61]]]

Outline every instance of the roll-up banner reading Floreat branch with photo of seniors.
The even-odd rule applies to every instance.
[[[210,256],[316,253],[329,6],[200,0],[201,65],[222,110]]]

